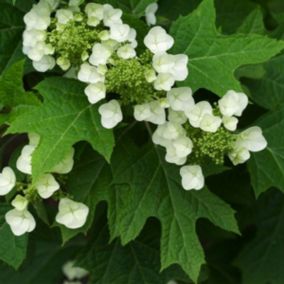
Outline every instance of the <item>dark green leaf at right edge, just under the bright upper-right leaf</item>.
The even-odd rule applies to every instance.
[[[264,74],[258,80],[245,79],[252,99],[266,109],[278,109],[284,103],[284,55],[263,65]]]

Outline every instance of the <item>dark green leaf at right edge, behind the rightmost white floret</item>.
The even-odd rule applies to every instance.
[[[263,129],[268,146],[252,154],[248,164],[256,196],[270,187],[284,191],[284,109],[267,114],[258,125]]]

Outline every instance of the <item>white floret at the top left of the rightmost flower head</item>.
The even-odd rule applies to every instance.
[[[167,94],[167,98],[171,108],[175,111],[188,112],[195,104],[192,90],[188,87],[171,89]]]

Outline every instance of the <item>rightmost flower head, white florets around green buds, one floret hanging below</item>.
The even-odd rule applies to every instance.
[[[186,190],[204,187],[201,166],[207,162],[223,164],[228,155],[234,165],[244,163],[249,151],[257,152],[267,146],[259,127],[236,134],[238,118],[248,105],[243,93],[228,91],[213,108],[209,102],[195,103],[190,88],[174,88],[167,94],[168,120],[159,125],[153,142],[166,149],[166,161],[183,166],[182,185]]]

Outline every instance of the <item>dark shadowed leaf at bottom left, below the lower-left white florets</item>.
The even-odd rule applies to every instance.
[[[32,234],[27,258],[18,271],[0,263],[0,283],[63,283],[62,267],[74,260],[80,247],[77,244],[62,247],[59,239],[55,231],[38,228]]]

